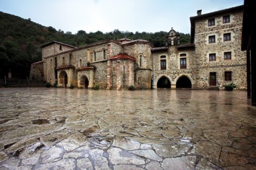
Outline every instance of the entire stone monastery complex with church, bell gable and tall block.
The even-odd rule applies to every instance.
[[[143,39],[107,39],[82,47],[61,42],[41,46],[42,61],[32,64],[31,79],[59,87],[92,89],[246,89],[246,52],[241,51],[243,5],[190,18],[191,42],[180,44],[171,29],[166,46]]]

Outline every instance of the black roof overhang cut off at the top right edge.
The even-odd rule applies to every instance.
[[[243,13],[243,31],[242,31],[242,43],[241,50],[246,50],[250,41],[252,32],[255,33],[256,27],[256,1],[244,1],[244,13]]]

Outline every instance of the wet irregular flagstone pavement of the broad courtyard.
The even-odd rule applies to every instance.
[[[0,89],[0,169],[256,169],[246,96]]]

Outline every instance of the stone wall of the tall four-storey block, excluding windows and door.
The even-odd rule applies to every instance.
[[[223,24],[222,16],[230,15],[230,22]],[[208,19],[195,22],[195,46],[197,67],[197,88],[207,89],[210,72],[216,72],[216,86],[235,83],[238,89],[246,89],[246,53],[241,52],[243,12],[215,16],[215,25],[208,26]],[[224,33],[230,33],[230,41],[224,41]],[[208,42],[215,36],[215,43]],[[231,52],[231,60],[224,60],[224,52]],[[216,61],[209,60],[209,54],[216,54]],[[232,71],[232,81],[224,80],[224,72]]]

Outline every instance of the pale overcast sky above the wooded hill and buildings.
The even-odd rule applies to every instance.
[[[243,0],[0,0],[0,11],[56,30],[190,33],[190,16],[243,5]]]

